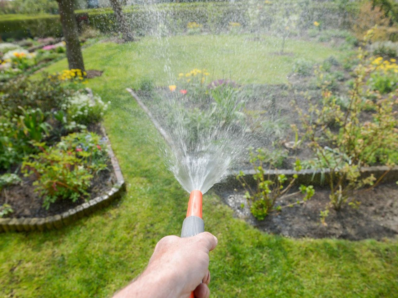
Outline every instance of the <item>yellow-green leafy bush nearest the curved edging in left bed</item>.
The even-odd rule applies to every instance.
[[[100,137],[95,134],[84,135],[85,137],[80,134],[62,137],[61,142],[53,147],[37,143],[41,152],[25,158],[22,172],[25,176],[35,176],[35,192],[43,197],[43,206],[46,209],[58,199],[70,199],[74,202],[87,197],[94,174],[106,168],[106,164],[98,162],[95,158],[103,147],[90,143]],[[88,146],[87,150],[83,150],[82,147],[78,147],[78,142],[87,135],[90,141],[85,142]]]

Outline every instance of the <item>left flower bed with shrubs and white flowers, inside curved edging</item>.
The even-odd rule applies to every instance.
[[[124,186],[98,124],[109,103],[83,88],[84,75],[65,70],[2,83],[0,217],[56,216]]]

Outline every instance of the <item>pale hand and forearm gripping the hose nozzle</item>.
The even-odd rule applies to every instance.
[[[195,298],[208,298],[209,252],[217,242],[209,232],[162,238],[144,272],[113,298],[189,298],[192,291]]]

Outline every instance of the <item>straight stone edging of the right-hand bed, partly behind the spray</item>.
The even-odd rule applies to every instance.
[[[131,88],[126,88],[127,92],[131,94],[131,96],[137,101],[137,103],[140,105],[140,107],[146,112],[150,120],[153,122],[154,126],[156,129],[160,132],[162,137],[165,139],[165,141],[170,144],[171,138],[167,134],[167,132],[160,126],[160,124],[157,122],[157,120],[154,118],[152,113],[148,110],[148,108],[145,106],[144,103],[140,100],[138,95],[133,91]],[[385,176],[384,173],[388,171],[388,174]],[[255,183],[253,179],[253,174],[255,174],[254,170],[244,170],[243,171],[245,174],[245,179],[246,182],[248,183]],[[312,185],[324,185],[327,183],[328,179],[328,173],[330,172],[329,169],[325,170],[300,170],[299,172],[296,172],[295,170],[287,170],[287,169],[281,169],[281,170],[264,170],[264,174],[270,176],[272,179],[276,175],[279,174],[285,174],[287,177],[292,177],[293,174],[298,174],[298,178],[295,180],[295,184],[312,184]],[[230,172],[226,175],[226,177],[218,182],[216,185],[220,184],[229,184],[233,187],[240,187],[240,182],[236,179],[237,172]],[[392,182],[392,181],[397,181],[398,180],[398,166],[394,166],[392,168],[389,168],[388,166],[369,166],[369,167],[364,167],[361,168],[361,176],[362,177],[367,177],[373,174],[376,179],[380,178],[383,176],[381,182]],[[322,179],[324,177],[324,181]]]

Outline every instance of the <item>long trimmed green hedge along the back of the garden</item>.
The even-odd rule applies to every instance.
[[[268,26],[273,21],[272,6],[258,2],[250,7],[246,1],[231,2],[189,2],[189,3],[162,3],[154,5],[135,5],[126,7],[124,12],[130,26],[137,35],[146,35],[159,32],[161,28],[165,34],[176,34],[186,30],[187,22],[197,22],[203,28],[214,33],[226,31],[230,22],[237,22],[250,31],[254,15],[262,14],[267,22],[261,25]],[[352,3],[352,2],[349,2]],[[322,23],[324,28],[349,27],[349,16],[355,13],[351,6],[341,6],[336,2],[318,2],[316,0],[288,0],[283,5],[287,10],[295,4],[299,8],[299,26],[312,26],[314,21]],[[254,11],[256,11],[254,13]],[[59,15],[11,15],[0,20],[0,36],[3,40],[12,37],[59,37],[62,33]],[[266,16],[266,17],[264,17]],[[79,27],[82,23],[89,23],[103,33],[117,30],[117,22],[110,8],[77,10],[76,19]]]

